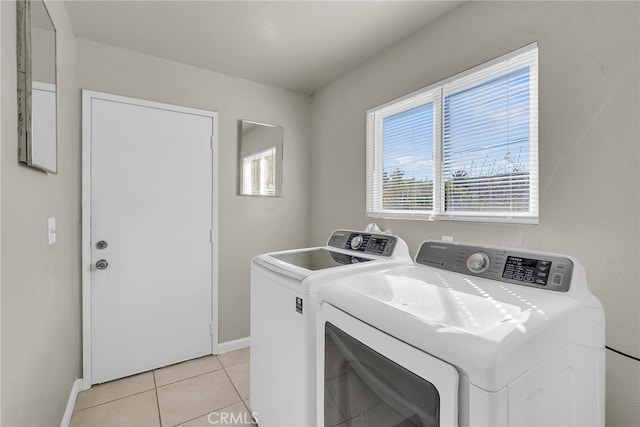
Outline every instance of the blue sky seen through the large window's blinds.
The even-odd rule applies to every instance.
[[[444,179],[528,171],[529,96],[528,67],[446,95]],[[433,180],[433,103],[384,118],[383,141],[387,177]]]

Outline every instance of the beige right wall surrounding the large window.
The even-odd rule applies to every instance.
[[[538,41],[540,224],[377,220],[423,239],[575,256],[603,302],[607,343],[640,354],[638,2],[469,2],[312,98],[311,243],[360,228],[365,112]],[[327,167],[330,165],[330,167]],[[640,425],[640,363],[607,352],[607,425]]]

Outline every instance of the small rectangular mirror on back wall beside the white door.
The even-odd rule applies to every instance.
[[[280,126],[241,120],[239,123],[239,194],[282,195],[282,146]]]

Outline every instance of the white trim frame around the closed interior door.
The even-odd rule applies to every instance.
[[[218,113],[82,90],[82,372],[83,389],[91,387],[91,118],[94,99],[120,102],[212,119],[212,195],[211,195],[211,354],[218,352]]]

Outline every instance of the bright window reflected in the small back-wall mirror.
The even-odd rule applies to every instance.
[[[252,153],[242,159],[243,194],[272,196],[275,194],[276,147]]]

